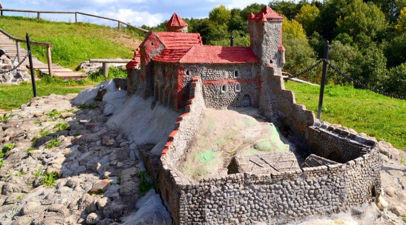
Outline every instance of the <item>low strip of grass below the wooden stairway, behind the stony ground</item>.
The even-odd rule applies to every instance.
[[[1,20],[0,20],[1,21]],[[42,77],[36,82],[38,96],[49,94],[66,95],[68,93],[79,93],[90,85],[96,85],[102,81],[113,79],[114,77],[127,77],[125,70],[110,68],[109,77],[105,78],[100,72],[89,75],[88,79],[79,81],[62,81],[54,77]],[[32,85],[30,82],[23,82],[20,85],[0,85],[0,109],[10,111],[20,108],[21,105],[29,102],[32,95]],[[6,120],[0,118],[0,120]]]

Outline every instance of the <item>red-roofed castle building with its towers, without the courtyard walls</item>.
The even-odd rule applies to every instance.
[[[283,19],[267,6],[249,15],[249,47],[209,46],[199,33],[187,33],[188,24],[175,13],[168,32],[149,32],[139,45],[139,59],[128,65],[140,64],[133,85],[141,84],[142,96],[179,110],[187,104],[192,78],[200,76],[207,107],[265,107],[260,104],[267,102],[263,74],[269,68],[280,74],[285,64]]]

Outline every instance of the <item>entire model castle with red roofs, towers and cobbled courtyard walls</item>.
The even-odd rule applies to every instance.
[[[151,110],[142,113],[152,113],[157,104],[179,113],[167,139],[164,134],[154,151],[141,151],[175,224],[284,224],[379,197],[376,140],[316,119],[285,90],[283,20],[267,6],[248,16],[249,47],[208,46],[174,14],[167,32],[148,32],[127,65],[128,94],[151,101]],[[283,131],[304,162],[291,160],[292,154],[236,156],[225,175],[185,176],[179,163],[196,139],[204,110],[247,106]],[[278,167],[283,157],[290,163],[286,170]]]

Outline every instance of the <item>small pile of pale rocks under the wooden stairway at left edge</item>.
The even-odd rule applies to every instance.
[[[0,53],[1,55],[1,53]],[[0,84],[18,84],[22,81],[31,80],[31,76],[28,74],[26,67],[18,67],[17,70],[1,74],[4,70],[9,70],[18,65],[18,62],[12,62],[6,55],[0,57]]]

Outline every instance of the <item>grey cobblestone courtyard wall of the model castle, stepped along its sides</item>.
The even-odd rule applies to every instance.
[[[157,187],[175,224],[239,224],[272,222],[328,215],[379,196],[380,164],[376,142],[315,123],[314,114],[294,103],[280,76],[270,76],[278,118],[284,118],[304,143],[313,143],[322,156],[338,151],[344,163],[270,174],[238,173],[201,181],[189,180],[176,164],[185,154],[203,114],[201,83],[192,82],[195,95],[169,135],[158,169]],[[310,124],[310,122],[313,122]],[[323,151],[321,151],[323,150]],[[309,148],[309,151],[312,149]],[[348,161],[349,160],[349,161]],[[283,223],[283,222],[281,222]]]

